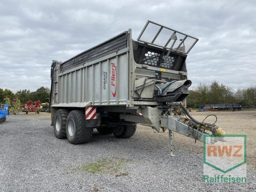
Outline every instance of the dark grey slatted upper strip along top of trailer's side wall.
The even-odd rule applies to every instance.
[[[75,57],[63,62],[60,65],[60,72],[75,68],[79,65],[85,64],[89,61],[96,60],[100,57],[116,52],[127,47],[127,31],[105,41],[87,51],[84,51]]]

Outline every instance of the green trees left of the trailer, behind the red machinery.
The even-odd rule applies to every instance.
[[[50,89],[48,87],[40,87],[35,92],[30,92],[29,89],[24,89],[13,93],[9,89],[3,90],[0,88],[0,103],[4,103],[3,99],[5,98],[10,98],[11,100],[19,99],[21,105],[24,105],[27,100],[40,100],[42,103],[49,103]]]

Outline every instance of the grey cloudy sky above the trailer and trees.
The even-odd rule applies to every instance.
[[[212,3],[211,3],[212,2]],[[1,0],[0,88],[49,87],[52,60],[70,57],[147,20],[199,39],[187,58],[194,86],[256,85],[256,2]]]

